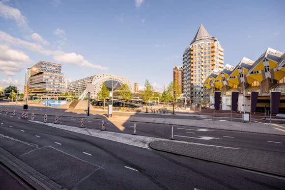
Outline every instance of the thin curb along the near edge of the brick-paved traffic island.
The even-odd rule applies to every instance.
[[[279,177],[285,177],[285,174],[280,174],[280,173],[274,173],[274,172],[268,172],[268,171],[265,171],[265,170],[258,170],[254,167],[244,167],[244,166],[241,166],[241,165],[238,165],[238,164],[233,164],[233,163],[224,163],[224,162],[219,162],[219,161],[215,161],[215,160],[212,160],[212,159],[208,159],[208,158],[201,158],[201,157],[197,157],[197,156],[190,156],[190,155],[186,155],[186,154],[183,154],[183,153],[178,153],[178,152],[174,152],[174,151],[171,151],[171,150],[165,150],[165,149],[160,149],[160,148],[157,148],[153,145],[153,143],[156,142],[156,141],[152,141],[149,143],[149,147],[154,149],[154,150],[157,150],[157,151],[162,151],[162,152],[166,152],[166,153],[171,153],[171,154],[174,154],[174,155],[179,155],[179,156],[185,156],[185,157],[188,157],[188,158],[193,158],[193,159],[198,159],[198,160],[202,160],[202,161],[208,161],[208,162],[212,162],[212,163],[219,163],[219,164],[223,164],[223,165],[228,165],[228,166],[233,166],[233,167],[237,167],[237,168],[241,168],[241,169],[247,169],[247,170],[251,170],[251,171],[255,171],[255,172],[260,172],[260,173],[265,173],[265,174],[269,174],[269,175],[274,175],[274,176],[279,176]]]

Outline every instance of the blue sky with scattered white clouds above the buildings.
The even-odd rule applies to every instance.
[[[0,86],[24,90],[25,68],[62,64],[71,81],[108,73],[158,91],[200,24],[224,62],[285,52],[285,0],[0,0]]]

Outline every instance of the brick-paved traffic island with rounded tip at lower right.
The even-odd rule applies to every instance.
[[[152,141],[150,147],[155,150],[285,177],[285,153],[161,140]]]

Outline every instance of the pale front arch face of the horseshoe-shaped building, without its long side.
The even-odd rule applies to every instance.
[[[117,90],[124,83],[129,86],[131,92],[133,91],[131,82],[127,78],[118,75],[111,75],[111,74],[95,75],[93,76],[91,83],[94,85],[94,91],[90,93],[90,97],[92,99],[97,98],[97,93],[101,90],[103,83],[105,83],[105,85],[110,91],[112,91],[112,85],[113,85],[113,90]],[[82,92],[81,96],[79,97],[79,100],[85,99],[87,93],[88,92],[86,91],[86,85],[85,85],[85,90]]]

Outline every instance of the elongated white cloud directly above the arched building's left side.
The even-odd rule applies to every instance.
[[[98,70],[107,70],[107,67],[95,65],[87,61],[81,54],[75,53],[63,53],[54,55],[54,59],[59,63],[66,63],[72,65],[78,65],[80,67],[93,68]]]

